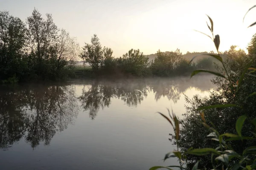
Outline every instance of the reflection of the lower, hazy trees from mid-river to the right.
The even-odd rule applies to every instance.
[[[84,85],[79,100],[84,111],[89,111],[89,117],[95,119],[99,109],[109,107],[111,99],[121,99],[128,106],[140,104],[149,92],[154,93],[158,101],[167,97],[176,103],[180,96],[191,87],[199,91],[215,88],[210,81],[211,77],[156,78],[156,79],[125,79],[113,81],[93,81],[91,85]]]

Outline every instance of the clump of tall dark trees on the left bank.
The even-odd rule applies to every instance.
[[[0,79],[17,82],[65,79],[79,55],[79,44],[55,25],[51,14],[38,10],[23,23],[9,12],[0,12]]]

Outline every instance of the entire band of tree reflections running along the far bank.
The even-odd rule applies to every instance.
[[[87,81],[79,94],[76,94],[76,83],[2,86],[0,148],[9,147],[21,139],[32,148],[40,142],[48,145],[56,133],[73,123],[79,110],[87,111],[90,119],[95,119],[99,110],[109,107],[113,99],[136,107],[149,93],[154,94],[156,101],[167,97],[176,103],[190,87],[202,91],[214,88],[209,80],[210,77],[200,81],[196,78]]]

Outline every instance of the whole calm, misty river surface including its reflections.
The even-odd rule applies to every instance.
[[[164,155],[184,94],[207,96],[211,77],[0,86],[1,170],[148,170]]]

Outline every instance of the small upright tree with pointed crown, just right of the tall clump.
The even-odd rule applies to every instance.
[[[96,34],[93,34],[91,44],[85,43],[81,53],[81,59],[84,60],[84,63],[89,63],[93,71],[99,69],[99,66],[104,59],[104,52],[102,51],[102,46]]]

